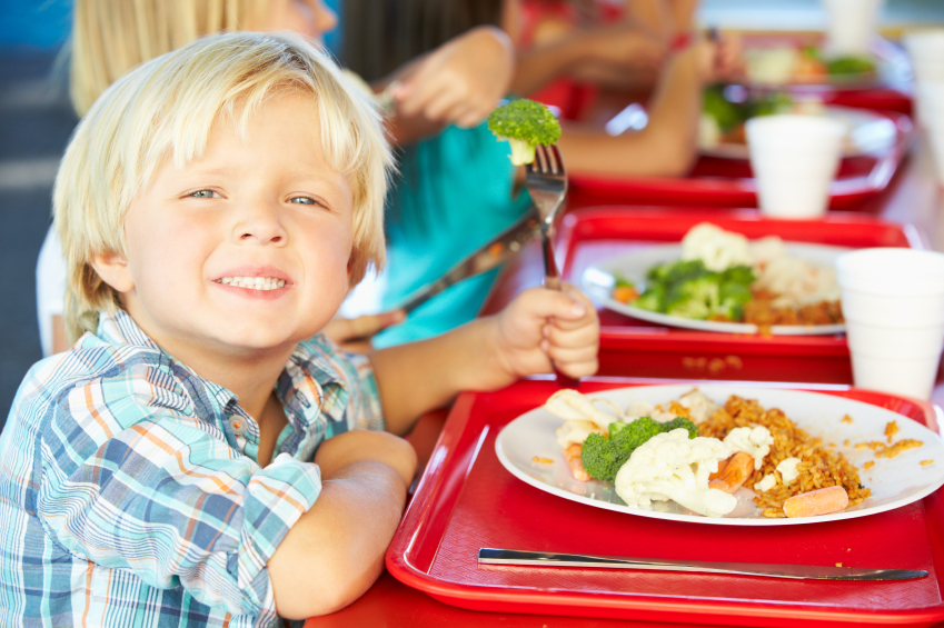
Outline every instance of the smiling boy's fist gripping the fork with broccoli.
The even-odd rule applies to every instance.
[[[597,371],[599,319],[570,285],[564,291],[534,288],[497,317],[498,359],[511,379],[552,372],[570,377]]]

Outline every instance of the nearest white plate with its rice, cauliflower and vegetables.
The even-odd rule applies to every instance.
[[[590,456],[587,469],[606,475],[599,471],[600,459],[593,462],[590,440],[616,439],[592,435],[613,435],[618,431],[614,426],[632,429],[639,416],[652,416],[650,420],[665,425],[685,415],[697,427],[697,438],[683,433],[683,428],[678,428],[682,432],[676,429],[650,437],[637,445],[626,462],[616,462],[619,470],[613,484],[575,477],[575,443],[586,450],[583,460]],[[751,440],[742,433],[742,445],[737,445],[737,439],[732,440],[737,428],[742,432],[747,428],[751,438],[757,428],[769,436],[766,441]],[[673,439],[666,446],[665,441]],[[682,453],[676,447],[679,442]],[[926,427],[870,403],[785,389],[640,386],[590,397],[568,390],[509,422],[496,438],[495,450],[511,475],[550,495],[642,517],[708,525],[784,526],[864,517],[916,501],[944,484],[944,442]],[[721,485],[714,482],[725,478],[725,461],[733,463],[734,456],[744,457],[743,451],[752,462],[739,488],[715,488]],[[680,479],[676,470],[674,485],[663,471],[653,470],[653,460],[666,455],[678,460],[660,463],[690,469],[690,474],[680,474],[687,476]],[[698,476],[712,469],[712,457],[722,475],[713,477],[707,488],[699,487],[705,478]],[[718,495],[707,499],[709,489]],[[791,498],[793,504],[805,504],[809,494],[819,489],[845,492],[847,506],[819,515],[794,508],[787,515]],[[680,497],[673,490],[682,491]],[[635,505],[628,506],[624,497]]]

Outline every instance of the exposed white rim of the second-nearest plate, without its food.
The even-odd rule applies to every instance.
[[[818,263],[821,266],[834,266],[836,257],[852,249],[846,247],[832,247],[828,245],[805,245],[799,242],[786,242],[787,251],[795,257]],[[635,282],[637,286],[644,286],[646,282],[646,271],[652,267],[672,260],[682,258],[682,245],[657,245],[642,250],[636,250],[625,256],[610,258],[609,260],[598,266],[590,267],[584,271],[582,283],[584,290],[596,301],[603,303],[608,309],[638,318],[648,320],[658,325],[668,327],[683,327],[685,329],[698,329],[700,331],[722,331],[727,333],[757,333],[756,325],[746,322],[721,322],[716,320],[698,320],[693,318],[683,318],[679,316],[669,316],[662,312],[654,312],[635,308],[633,306],[622,303],[610,297],[613,291],[613,273],[622,272],[624,277]],[[841,333],[845,330],[845,325],[775,325],[771,327],[771,333],[774,336],[823,336],[831,333]]]

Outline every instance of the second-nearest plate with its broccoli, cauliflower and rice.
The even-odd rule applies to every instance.
[[[851,249],[747,240],[703,222],[679,245],[656,245],[587,268],[604,307],[669,327],[808,336],[845,329],[835,259]]]

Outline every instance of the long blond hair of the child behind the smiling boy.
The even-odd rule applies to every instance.
[[[72,106],[85,116],[128,70],[203,36],[260,29],[285,0],[77,0],[69,60]]]

